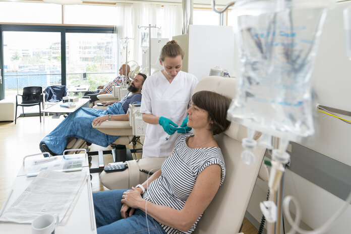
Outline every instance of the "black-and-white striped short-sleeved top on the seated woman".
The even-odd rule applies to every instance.
[[[189,148],[186,139],[194,133],[180,134],[175,141],[172,155],[164,161],[159,178],[151,182],[143,198],[157,205],[166,205],[181,210],[191,192],[199,174],[208,166],[218,164],[221,167],[222,185],[225,165],[219,147]],[[187,231],[183,232],[160,223],[168,234],[191,233],[195,230],[200,217]]]

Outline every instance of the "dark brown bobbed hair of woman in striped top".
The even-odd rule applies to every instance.
[[[192,97],[193,104],[208,112],[208,121],[212,120],[210,130],[213,135],[228,129],[230,122],[226,119],[231,99],[211,91],[199,91]]]

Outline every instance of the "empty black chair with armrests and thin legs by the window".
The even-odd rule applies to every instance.
[[[15,124],[16,124],[16,120],[17,120],[17,106],[22,107],[23,115],[25,116],[23,107],[31,107],[31,106],[35,106],[35,105],[39,105],[39,117],[40,117],[40,123],[41,123],[40,103],[42,104],[42,106],[44,108],[42,91],[43,91],[43,89],[41,87],[38,87],[38,86],[24,87],[23,94],[16,95]],[[17,99],[18,96],[22,97],[21,103],[18,103],[18,99]]]

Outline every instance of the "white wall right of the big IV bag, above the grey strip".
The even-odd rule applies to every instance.
[[[345,56],[345,35],[342,10],[351,2],[338,3],[328,12],[313,72],[316,103],[351,111],[351,60]],[[351,124],[316,112],[316,134],[304,146],[351,166]],[[351,120],[351,117],[342,116]]]

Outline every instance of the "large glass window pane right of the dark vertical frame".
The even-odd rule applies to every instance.
[[[119,67],[116,34],[66,33],[67,86],[87,83],[94,90],[111,81]],[[87,73],[87,80],[82,80]]]

